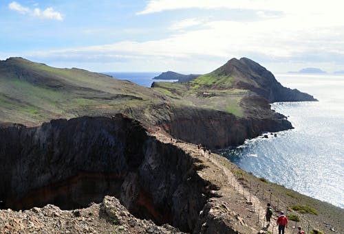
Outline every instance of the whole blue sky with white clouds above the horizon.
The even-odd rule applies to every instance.
[[[344,70],[343,0],[0,0],[0,60],[90,71]]]

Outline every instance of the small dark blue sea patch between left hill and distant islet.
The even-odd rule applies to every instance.
[[[111,75],[119,80],[130,80],[141,86],[150,87],[153,82],[166,81],[175,82],[178,80],[152,80],[155,76],[158,76],[161,72],[105,72],[107,75]]]

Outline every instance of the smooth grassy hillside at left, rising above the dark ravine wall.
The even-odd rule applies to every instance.
[[[59,117],[130,112],[164,94],[82,69],[57,69],[10,58],[0,62],[1,121],[36,124]]]

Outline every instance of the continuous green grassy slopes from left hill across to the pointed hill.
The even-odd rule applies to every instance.
[[[238,85],[248,84],[250,77],[243,75],[248,71],[235,67],[238,61],[230,60],[191,82],[157,82],[150,89],[83,69],[57,69],[9,58],[0,61],[0,121],[32,126],[56,118],[125,113],[155,125],[171,119],[176,108],[190,107],[237,117],[274,118],[266,101],[250,87]],[[256,77],[261,67],[249,69]],[[253,83],[258,86],[255,78]]]

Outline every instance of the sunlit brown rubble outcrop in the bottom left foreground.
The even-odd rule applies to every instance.
[[[25,211],[0,210],[0,233],[156,233],[181,234],[169,224],[140,220],[119,200],[105,196],[85,209],[61,210],[52,204]]]

